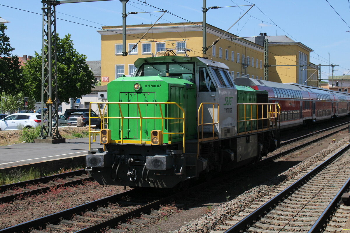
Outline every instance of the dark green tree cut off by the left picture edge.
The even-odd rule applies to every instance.
[[[0,24],[0,92],[16,94],[22,89],[20,61],[16,55],[11,55],[15,50],[10,45],[10,39],[6,36],[7,26]]]

